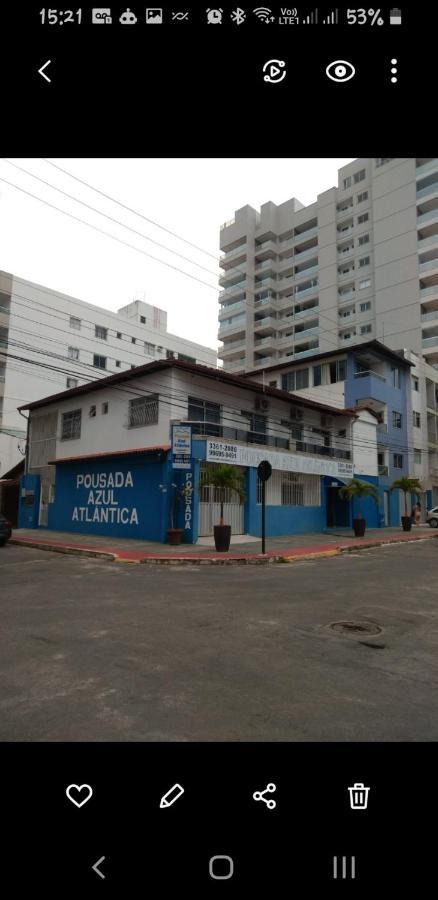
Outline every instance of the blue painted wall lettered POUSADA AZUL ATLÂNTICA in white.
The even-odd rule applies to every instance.
[[[164,541],[169,498],[160,484],[166,478],[167,461],[151,455],[60,464],[48,527]]]

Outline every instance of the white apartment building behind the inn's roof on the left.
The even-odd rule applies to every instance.
[[[18,406],[166,358],[217,366],[215,350],[170,334],[156,306],[111,312],[0,271],[0,477],[24,452]]]

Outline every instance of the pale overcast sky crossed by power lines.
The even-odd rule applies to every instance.
[[[2,159],[0,269],[110,310],[145,300],[167,311],[169,332],[216,349],[220,225],[246,204],[307,206],[352,159],[50,158],[70,174],[43,159]]]

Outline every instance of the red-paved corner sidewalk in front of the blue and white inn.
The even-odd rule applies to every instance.
[[[46,531],[46,529],[20,528],[13,532],[11,543],[40,550],[52,550],[76,556],[97,557],[116,562],[149,564],[227,565],[288,563],[300,559],[320,556],[335,556],[349,550],[366,550],[385,544],[438,538],[438,530],[428,526],[413,528],[403,532],[401,528],[370,528],[364,538],[355,538],[350,530],[339,529],[336,533],[294,534],[266,539],[266,553],[262,556],[261,539],[236,535],[231,540],[229,553],[216,553],[204,549],[208,538],[202,544],[180,544],[170,547],[152,541],[136,541],[127,538],[97,537],[96,535],[74,534],[71,532]]]

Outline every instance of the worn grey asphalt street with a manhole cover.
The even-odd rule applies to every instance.
[[[266,568],[7,545],[0,740],[436,741],[437,567],[435,541]]]

